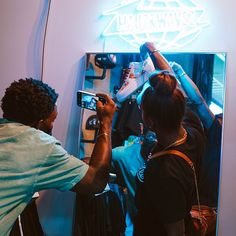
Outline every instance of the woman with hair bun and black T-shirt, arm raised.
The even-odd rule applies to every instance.
[[[144,122],[156,133],[158,142],[146,166],[137,173],[134,235],[189,235],[190,210],[196,197],[194,173],[171,151],[187,155],[198,169],[203,129],[200,120],[186,112],[185,98],[168,62],[152,43],[144,48],[161,69],[149,77],[140,99]]]

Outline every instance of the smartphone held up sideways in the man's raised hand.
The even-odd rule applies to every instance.
[[[77,105],[89,109],[92,111],[96,111],[97,101],[101,101],[103,104],[106,103],[105,98],[98,97],[94,93],[89,93],[83,90],[77,91]]]

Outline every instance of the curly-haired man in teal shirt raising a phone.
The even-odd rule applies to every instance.
[[[48,85],[20,79],[6,89],[0,119],[0,234],[8,235],[35,192],[43,189],[96,193],[104,189],[111,158],[110,130],[115,111],[97,103],[101,121],[90,165],[71,156],[51,135],[57,94]]]

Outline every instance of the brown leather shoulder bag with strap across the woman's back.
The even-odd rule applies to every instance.
[[[163,157],[169,154],[176,155],[184,159],[193,170],[198,204],[192,206],[190,214],[192,217],[195,231],[200,236],[206,236],[210,233],[213,233],[216,229],[216,216],[217,216],[216,209],[200,204],[196,172],[193,162],[188,158],[188,156],[178,150],[167,150],[155,153],[149,159],[153,159],[156,157]]]

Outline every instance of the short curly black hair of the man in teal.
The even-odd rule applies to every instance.
[[[55,90],[40,80],[26,78],[14,81],[2,98],[3,118],[32,125],[49,117],[57,98]]]

